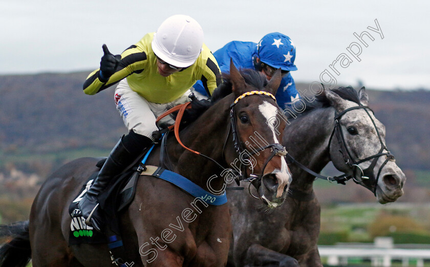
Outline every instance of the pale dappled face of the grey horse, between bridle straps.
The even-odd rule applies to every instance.
[[[346,108],[357,106],[356,103],[351,101],[346,102],[348,103]],[[382,148],[381,141],[385,144],[385,126],[375,118],[372,111],[367,111],[365,109],[351,110],[340,118],[340,125],[346,144],[348,145],[348,150],[356,161],[378,154]],[[377,130],[371,118],[375,122]],[[379,140],[378,133],[381,140]],[[386,152],[388,151],[382,151],[382,153]],[[372,160],[361,162],[358,165],[364,170],[371,165]],[[390,159],[381,168],[385,160],[386,156],[380,156],[373,168],[375,179],[377,179],[380,171],[376,197],[381,204],[394,202],[401,197],[403,195],[402,187],[406,180],[406,176],[397,166],[394,159]]]

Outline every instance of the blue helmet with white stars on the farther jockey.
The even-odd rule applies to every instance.
[[[282,70],[297,70],[294,65],[295,46],[290,37],[282,33],[266,34],[257,44],[261,62]]]

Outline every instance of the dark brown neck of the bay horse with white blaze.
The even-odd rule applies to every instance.
[[[187,148],[208,156],[221,165],[226,165],[223,157],[223,144],[229,130],[229,112],[226,111],[228,105],[224,107],[225,105],[222,103],[217,104],[219,104],[217,107],[211,107],[196,122],[183,129],[179,135]],[[213,112],[213,110],[222,111]],[[169,139],[167,154],[174,167],[173,171],[205,190],[209,190],[207,180],[216,174],[218,178],[211,179],[210,186],[213,190],[222,188],[224,181],[219,175],[222,169],[203,156],[184,150],[176,138]]]

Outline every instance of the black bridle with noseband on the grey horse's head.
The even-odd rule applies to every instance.
[[[376,134],[378,135],[379,143],[381,144],[381,149],[379,150],[379,152],[377,154],[372,155],[372,156],[367,157],[367,158],[364,158],[364,159],[357,159],[357,160],[355,160],[351,156],[351,153],[350,153],[348,146],[347,146],[347,142],[345,140],[345,137],[343,136],[342,128],[341,128],[340,123],[339,123],[340,118],[343,115],[345,115],[345,113],[347,113],[348,111],[354,110],[354,109],[363,109],[369,115],[370,119],[372,120],[372,124],[375,127]],[[345,161],[345,164],[347,164],[350,168],[353,169],[352,176],[346,176],[345,180],[349,180],[352,178],[355,183],[360,184],[360,185],[368,188],[369,190],[371,190],[376,195],[376,187],[378,185],[379,175],[382,171],[382,168],[385,166],[385,164],[390,159],[394,159],[394,156],[393,156],[393,154],[391,154],[390,151],[388,151],[384,142],[382,141],[381,135],[379,134],[378,128],[376,127],[375,121],[373,120],[372,116],[370,115],[369,110],[372,111],[372,113],[373,113],[373,110],[371,108],[369,108],[368,106],[361,106],[360,105],[360,106],[345,109],[342,112],[335,114],[335,116],[334,116],[335,125],[334,125],[333,132],[330,136],[329,149],[330,149],[332,137],[335,134],[337,141],[339,143],[340,153],[342,154],[342,157],[343,157],[343,160]],[[387,152],[383,153],[384,150],[386,150]],[[381,156],[386,156],[386,159],[382,163],[382,165],[379,167],[378,175],[375,178],[373,169],[375,168],[375,165],[376,165],[379,157],[381,157]],[[359,166],[359,164],[364,162],[364,161],[368,161],[368,160],[372,160],[371,164],[369,165],[369,167],[362,169]],[[359,171],[361,173],[359,177],[356,177],[357,171]],[[369,181],[369,183],[365,183],[364,181]]]

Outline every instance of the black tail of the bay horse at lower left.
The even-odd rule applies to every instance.
[[[0,247],[0,267],[25,267],[31,260],[29,221],[0,225],[0,238],[6,242]]]

